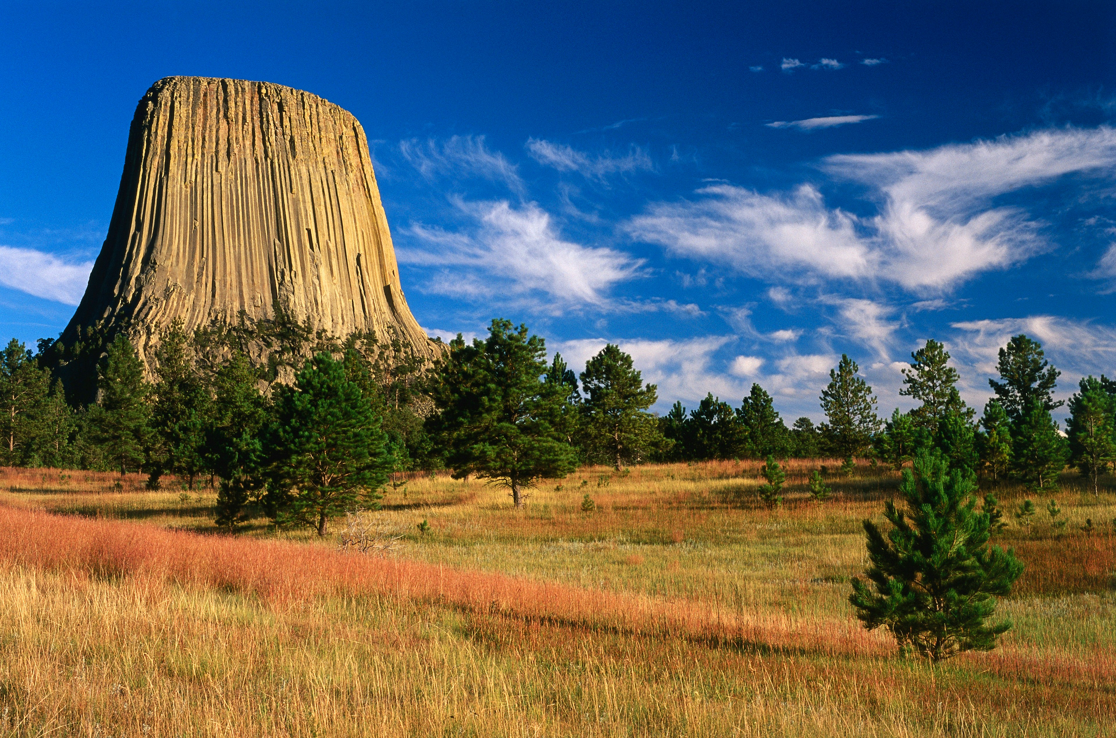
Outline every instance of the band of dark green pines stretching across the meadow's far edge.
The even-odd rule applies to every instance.
[[[952,467],[1047,489],[1067,462],[1091,477],[1116,459],[1116,383],[1081,380],[1067,434],[1050,411],[1058,371],[1016,336],[1000,349],[995,397],[978,420],[961,400],[942,344],[927,341],[904,370],[901,394],[920,404],[886,421],[848,356],[821,394],[826,422],[790,428],[753,384],[738,408],[712,395],[687,411],[650,412],[656,387],[607,345],[580,374],[546,361],[526,326],[493,320],[489,336],[459,336],[435,362],[401,342],[338,339],[308,324],[174,324],[150,357],[150,377],[118,335],[97,365],[97,399],[70,403],[54,377],[50,342],[32,354],[12,341],[0,357],[0,462],[174,475],[219,488],[219,523],[266,512],[324,533],[354,506],[375,506],[387,475],[449,468],[523,492],[579,463],[855,457],[902,467],[937,449]]]

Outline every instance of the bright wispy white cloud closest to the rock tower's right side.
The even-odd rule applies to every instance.
[[[472,297],[546,294],[552,305],[597,307],[616,282],[641,275],[639,259],[609,248],[562,240],[550,215],[535,203],[466,203],[459,209],[473,227],[450,232],[412,226],[425,249],[398,250],[406,263],[439,268],[427,289]]]

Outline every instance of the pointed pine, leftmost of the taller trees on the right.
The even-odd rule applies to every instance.
[[[821,426],[821,434],[841,458],[863,452],[879,428],[876,397],[857,372],[856,362],[841,354],[837,368],[829,371],[829,385],[821,393],[821,410],[829,420]]]

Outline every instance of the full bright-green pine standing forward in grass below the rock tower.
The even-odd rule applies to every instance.
[[[277,395],[268,488],[276,521],[325,536],[330,518],[377,509],[392,460],[379,418],[344,364],[317,354]]]

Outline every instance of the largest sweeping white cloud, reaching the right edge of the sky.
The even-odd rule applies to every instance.
[[[810,184],[760,194],[729,184],[695,201],[652,203],[626,223],[636,239],[739,271],[798,281],[878,279],[942,291],[1049,248],[1041,223],[993,198],[1075,172],[1112,176],[1116,131],[1101,126],[940,146],[924,152],[838,155],[822,170],[868,186],[878,214],[826,205]]]

